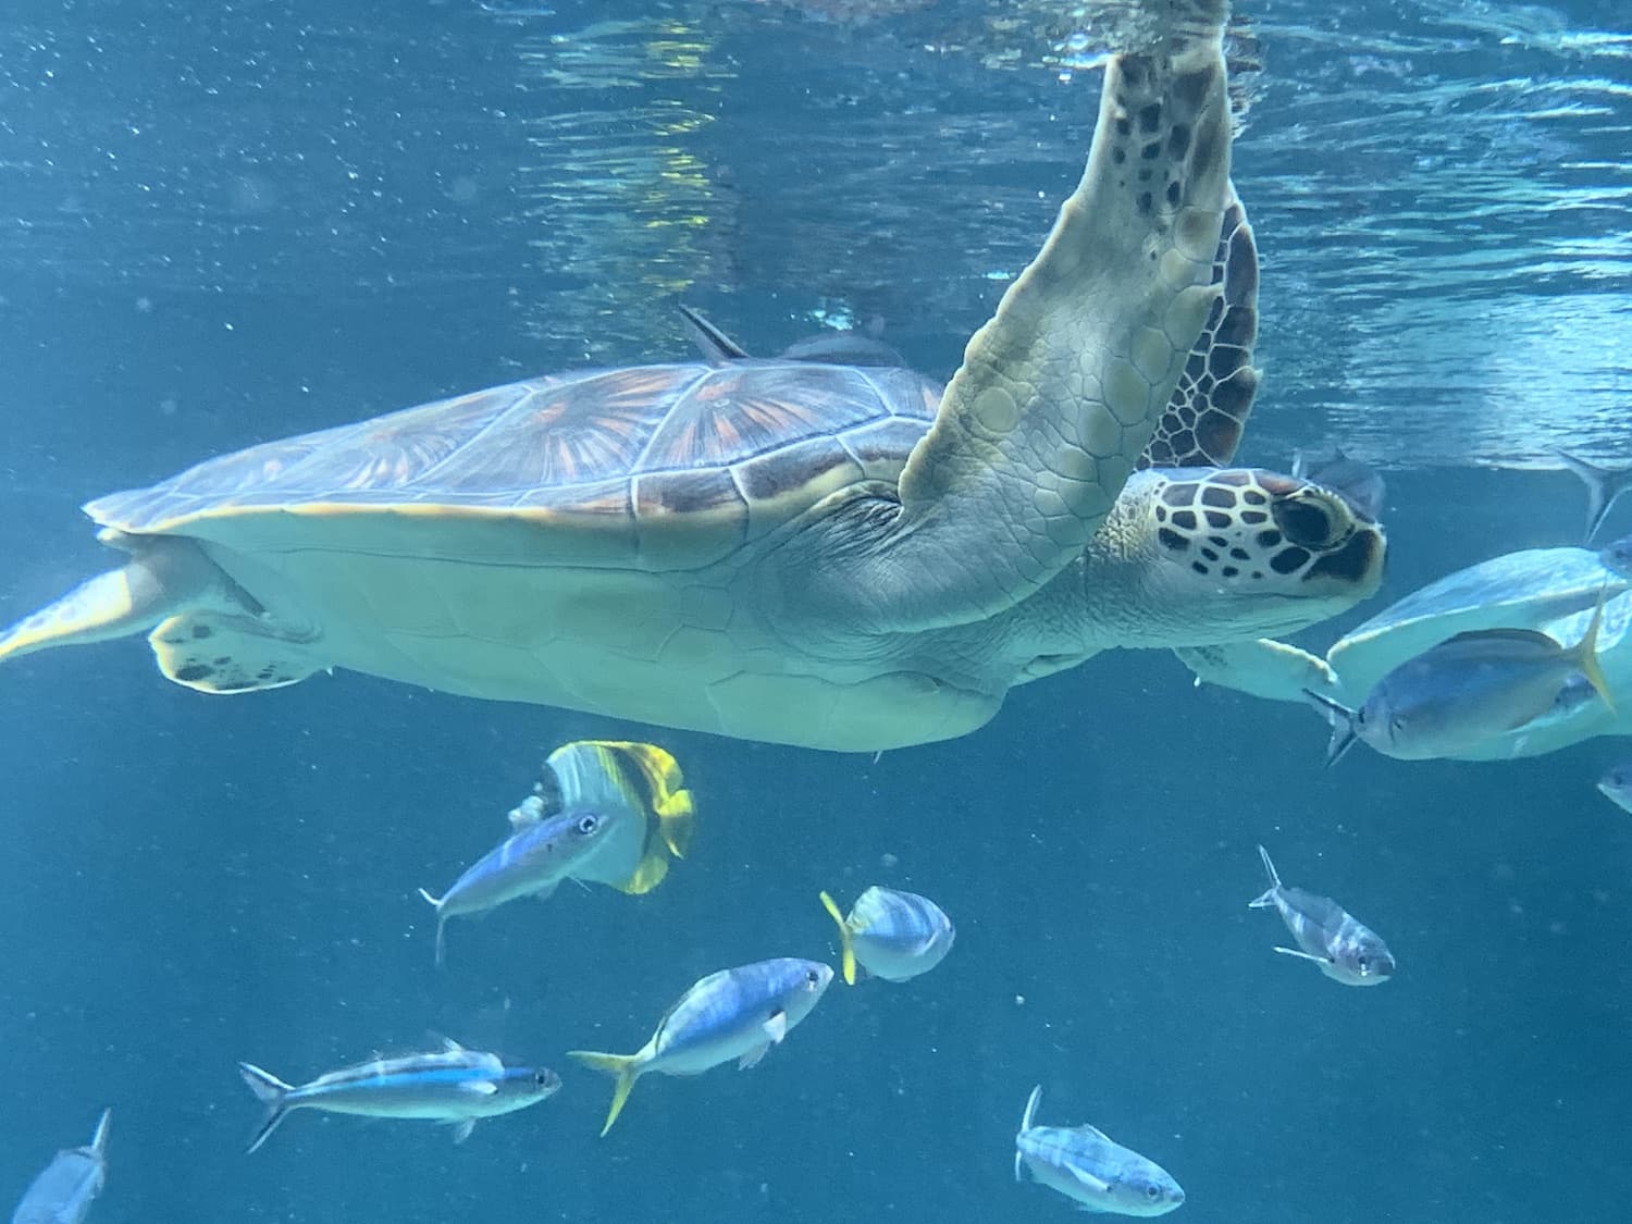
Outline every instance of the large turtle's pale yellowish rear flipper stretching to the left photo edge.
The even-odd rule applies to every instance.
[[[232,579],[193,540],[113,529],[100,539],[127,550],[131,560],[8,628],[0,635],[0,663],[51,646],[124,638],[184,609],[233,602]]]

